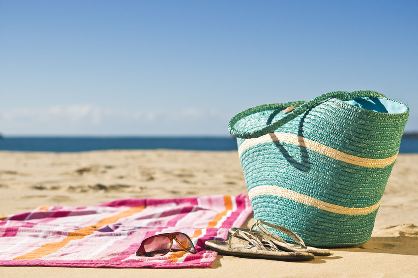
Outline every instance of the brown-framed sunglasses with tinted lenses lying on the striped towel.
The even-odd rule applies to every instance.
[[[175,245],[173,247],[173,240]],[[180,232],[165,233],[146,238],[142,241],[141,246],[136,251],[137,256],[163,256],[170,251],[186,251],[196,254],[191,239],[188,235]]]

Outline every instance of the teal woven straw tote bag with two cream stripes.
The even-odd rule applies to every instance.
[[[237,114],[228,129],[238,137],[254,217],[295,231],[311,246],[365,243],[408,115],[407,105],[372,91]]]

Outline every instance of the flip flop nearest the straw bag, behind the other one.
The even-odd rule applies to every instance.
[[[297,244],[290,244],[285,242],[281,237],[278,235],[270,232],[268,229],[266,229],[263,225],[272,227],[278,231],[281,231],[288,236],[290,236]],[[253,231],[254,227],[257,227],[259,231]],[[285,228],[283,226],[270,224],[266,221],[257,219],[255,223],[252,225],[251,229],[243,229],[243,228],[230,228],[229,234],[233,234],[235,231],[240,230],[244,232],[251,232],[251,233],[257,233],[261,236],[267,236],[267,238],[272,241],[279,249],[285,250],[285,251],[303,251],[303,252],[309,252],[316,256],[329,256],[331,254],[331,251],[328,249],[322,249],[322,248],[316,248],[316,247],[310,247],[305,246],[305,243],[303,240],[292,230],[289,230],[288,228]],[[229,237],[229,235],[228,235]]]

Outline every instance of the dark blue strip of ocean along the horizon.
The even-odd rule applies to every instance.
[[[0,150],[25,152],[86,152],[94,150],[235,151],[234,137],[5,137]],[[418,153],[418,137],[404,137],[401,154]]]

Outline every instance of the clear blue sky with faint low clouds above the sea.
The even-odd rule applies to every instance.
[[[249,107],[357,90],[418,131],[417,3],[0,0],[0,132],[227,135]]]

